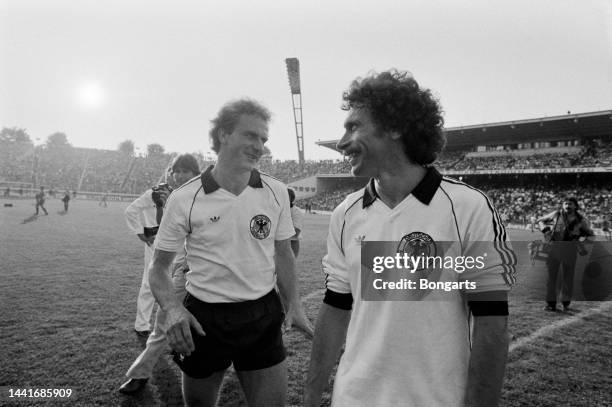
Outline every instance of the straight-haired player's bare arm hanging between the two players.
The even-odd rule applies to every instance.
[[[295,325],[296,328],[301,329],[307,336],[312,337],[314,330],[304,313],[297,290],[295,257],[293,257],[290,240],[276,240],[274,242],[274,250],[278,291],[287,312],[286,323],[289,327]]]

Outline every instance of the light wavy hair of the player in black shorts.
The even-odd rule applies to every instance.
[[[272,113],[261,103],[253,99],[238,99],[223,105],[217,117],[212,119],[212,129],[210,129],[210,140],[212,149],[215,153],[219,152],[219,134],[221,131],[231,133],[242,115],[253,115],[261,117],[265,122],[269,122]]]

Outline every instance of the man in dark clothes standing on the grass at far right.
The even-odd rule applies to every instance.
[[[546,282],[546,311],[557,311],[557,278],[559,267],[563,273],[561,285],[561,301],[563,311],[570,310],[572,300],[574,271],[576,267],[576,254],[583,254],[584,248],[578,240],[581,237],[591,238],[594,236],[589,222],[578,212],[580,206],[574,197],[566,198],[560,209],[538,219],[541,223],[540,229],[550,229],[550,250],[546,260],[548,268],[548,280]],[[547,225],[547,223],[549,223]]]

